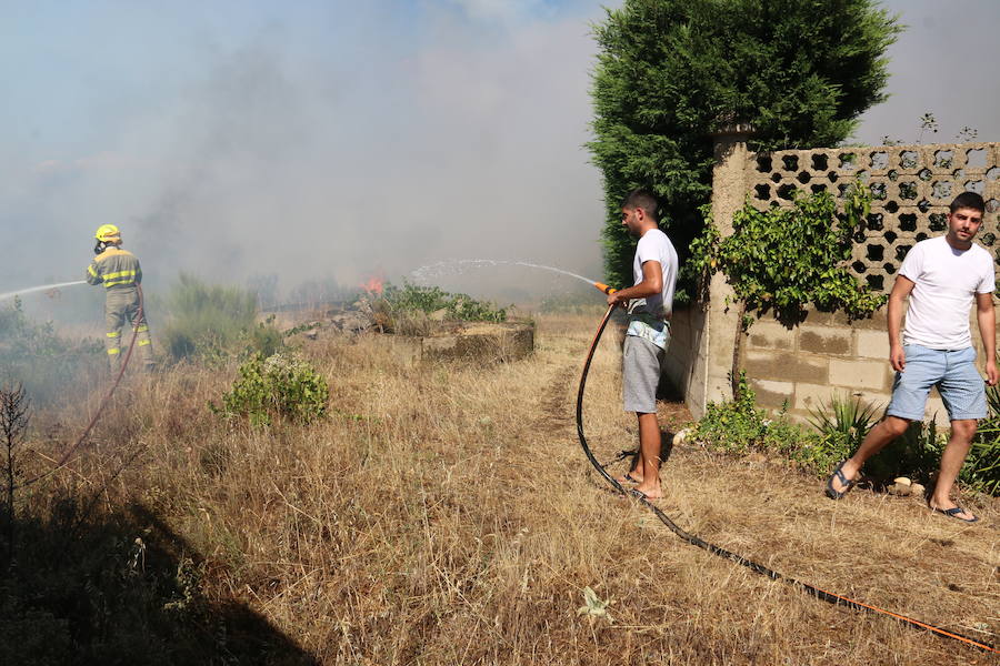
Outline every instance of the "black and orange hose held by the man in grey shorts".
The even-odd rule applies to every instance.
[[[594,282],[593,286],[596,286],[600,291],[604,292],[606,294],[611,294],[614,291],[617,291],[617,290],[608,286],[607,284],[602,284],[600,282]],[[884,616],[891,617],[898,622],[901,622],[907,626],[927,629],[938,636],[942,636],[946,638],[952,638],[952,639],[959,640],[970,647],[974,647],[974,648],[978,648],[981,650],[986,650],[986,652],[990,652],[990,653],[1000,652],[992,645],[982,643],[974,638],[970,638],[968,636],[962,636],[961,634],[957,634],[954,632],[949,632],[947,629],[942,629],[941,627],[937,627],[934,625],[920,622],[919,619],[913,619],[912,617],[907,617],[906,615],[900,615],[898,613],[892,613],[891,610],[886,610],[883,608],[879,608],[878,606],[864,604],[862,602],[846,597],[840,594],[827,592],[826,589],[820,589],[819,587],[816,587],[808,583],[802,583],[801,581],[797,581],[796,578],[792,578],[790,576],[779,574],[778,572],[776,572],[771,568],[768,568],[758,562],[754,562],[748,557],[743,557],[742,555],[739,555],[737,553],[732,553],[731,551],[727,551],[726,548],[722,548],[720,546],[711,544],[693,534],[689,534],[689,533],[684,532],[681,527],[679,527],[677,525],[677,523],[674,523],[670,518],[670,516],[668,516],[657,505],[654,505],[652,502],[650,502],[648,497],[646,497],[641,493],[633,492],[633,491],[627,491],[624,487],[622,487],[622,485],[618,481],[616,481],[614,477],[612,477],[610,474],[608,474],[608,471],[604,470],[604,466],[598,462],[597,457],[594,457],[593,452],[590,450],[590,446],[587,444],[587,437],[583,435],[583,390],[587,386],[587,374],[590,371],[590,363],[593,360],[593,354],[594,354],[594,351],[597,350],[598,342],[600,342],[600,340],[601,340],[601,334],[604,332],[604,327],[608,325],[608,321],[611,319],[611,313],[614,311],[614,307],[616,307],[616,305],[611,305],[610,307],[608,307],[608,312],[604,314],[604,317],[601,320],[601,323],[598,326],[597,333],[593,336],[593,341],[590,343],[590,350],[587,352],[587,361],[583,363],[583,372],[580,375],[580,389],[577,392],[577,436],[580,438],[580,446],[583,447],[583,453],[587,455],[587,460],[590,461],[590,464],[593,465],[593,468],[597,470],[598,474],[600,474],[604,478],[604,481],[607,481],[609,484],[611,484],[611,486],[613,487],[613,490],[617,493],[619,493],[621,495],[634,497],[640,503],[644,504],[646,507],[649,508],[653,513],[653,515],[656,515],[660,519],[661,523],[667,525],[667,527],[670,528],[671,532],[673,532],[673,534],[676,534],[683,541],[688,542],[689,544],[691,544],[693,546],[698,546],[699,548],[708,551],[709,553],[712,553],[713,555],[718,555],[719,557],[722,557],[724,559],[734,562],[741,566],[746,566],[747,568],[749,568],[753,572],[757,572],[758,574],[761,574],[763,576],[767,576],[768,578],[770,578],[772,581],[781,581],[783,583],[787,583],[787,584],[791,585],[792,587],[794,587],[810,596],[813,596],[820,601],[827,602],[829,604],[833,604],[834,606],[844,606],[847,608],[851,608],[852,610],[863,610],[863,612],[874,613],[874,614],[879,614],[879,615],[884,615]]]

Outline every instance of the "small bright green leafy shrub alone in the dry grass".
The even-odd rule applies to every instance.
[[[278,353],[253,354],[239,370],[240,377],[222,396],[217,414],[247,416],[252,425],[270,425],[276,417],[310,423],[327,413],[327,381],[301,359]]]

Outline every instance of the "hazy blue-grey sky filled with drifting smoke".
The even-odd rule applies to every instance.
[[[0,292],[122,228],[180,270],[399,281],[447,259],[600,276],[589,0],[0,0]],[[1000,138],[1000,2],[896,0],[892,98],[854,138]],[[559,279],[563,280],[563,279]]]

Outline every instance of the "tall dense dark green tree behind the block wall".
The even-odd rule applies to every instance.
[[[629,190],[656,192],[686,259],[711,192],[711,133],[740,120],[754,128],[754,150],[836,145],[884,99],[884,52],[900,30],[874,0],[624,0],[608,10],[596,28],[588,144],[604,176],[607,281],[631,281],[634,241],[618,208]]]

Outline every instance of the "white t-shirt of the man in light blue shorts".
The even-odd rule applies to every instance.
[[[974,294],[997,289],[993,259],[977,244],[956,250],[944,236],[920,241],[907,253],[899,274],[912,280],[903,344],[932,350],[972,346],[969,310]]]

